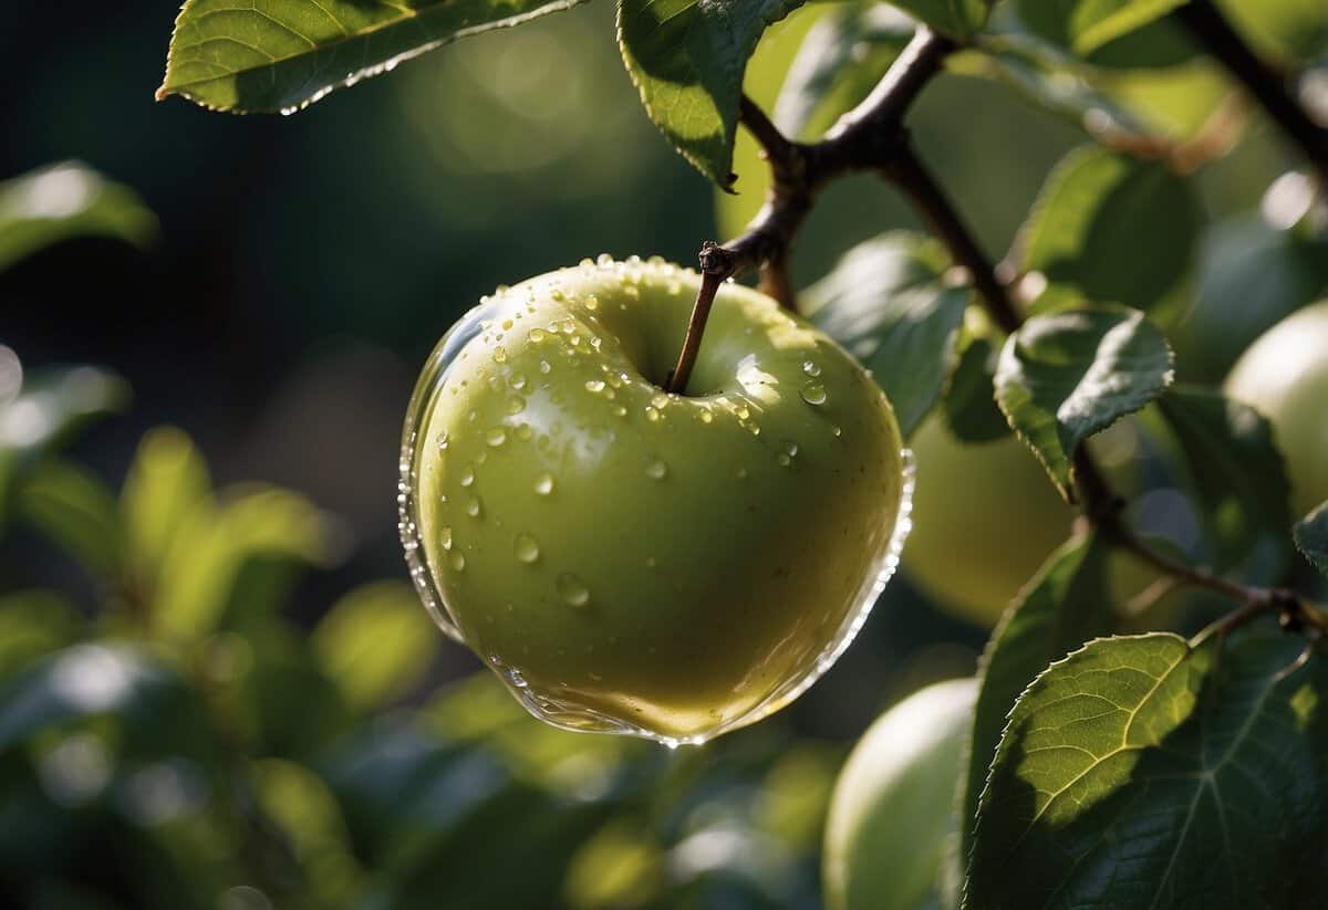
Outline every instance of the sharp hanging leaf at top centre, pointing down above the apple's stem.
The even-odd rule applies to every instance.
[[[720,187],[733,183],[733,137],[748,58],[766,27],[802,0],[620,0],[618,42],[645,113]]]

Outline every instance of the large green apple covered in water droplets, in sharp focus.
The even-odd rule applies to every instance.
[[[705,739],[786,704],[888,576],[894,413],[827,336],[725,284],[583,261],[499,289],[410,405],[402,539],[436,618],[559,726]]]

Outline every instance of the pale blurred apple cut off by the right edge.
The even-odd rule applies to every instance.
[[[1296,515],[1328,500],[1328,300],[1259,336],[1224,387],[1272,422]]]

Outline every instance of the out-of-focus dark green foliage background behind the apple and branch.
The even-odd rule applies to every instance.
[[[20,4],[0,31],[0,905],[819,906],[849,746],[971,674],[984,627],[896,580],[797,704],[675,753],[525,716],[433,629],[394,529],[400,422],[434,340],[495,284],[587,255],[691,261],[760,202],[754,149],[742,137],[738,195],[716,199],[641,111],[610,4],[250,119],[151,101],[175,9]],[[1328,50],[1320,20],[1280,21],[1266,53]],[[815,4],[770,29],[748,90],[811,135],[907,29]],[[918,143],[988,251],[1015,245],[1085,127],[1185,141],[1239,109],[1158,46],[1076,81],[1012,41],[926,93]],[[1324,72],[1307,93],[1328,96]],[[1195,176],[1171,333],[1198,381],[1328,288],[1296,162],[1232,117],[1231,154]],[[799,284],[900,227],[883,183],[833,187]],[[1142,527],[1183,547],[1194,520],[1157,458],[1126,439],[1116,460]],[[1203,616],[1185,606],[1177,625]]]

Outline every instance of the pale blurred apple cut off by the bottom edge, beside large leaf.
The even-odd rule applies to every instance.
[[[943,906],[976,698],[976,679],[928,686],[886,711],[858,740],[826,818],[827,910]]]

